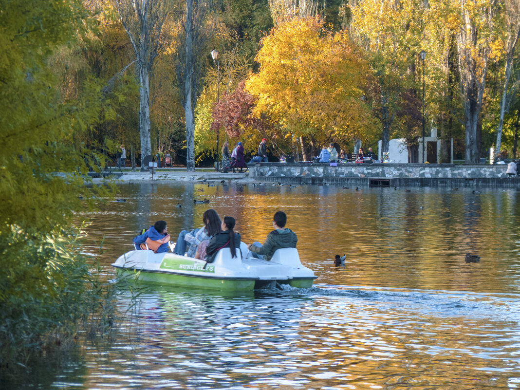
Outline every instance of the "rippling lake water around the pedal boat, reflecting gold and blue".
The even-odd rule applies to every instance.
[[[113,341],[82,339],[12,388],[512,389],[520,387],[520,192],[232,183],[123,184],[90,215],[110,263],[164,219],[172,238],[213,208],[263,242],[282,210],[308,290],[223,295],[150,286]],[[210,204],[193,204],[207,198]],[[183,205],[177,208],[177,203]],[[104,238],[104,253],[98,254]],[[481,256],[466,264],[466,252]],[[335,254],[346,254],[335,267]],[[120,296],[127,305],[128,292]]]

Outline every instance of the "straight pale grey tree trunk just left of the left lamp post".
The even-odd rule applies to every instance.
[[[184,80],[184,115],[186,118],[186,171],[195,171],[195,115],[193,107],[193,0],[186,0],[186,62]]]

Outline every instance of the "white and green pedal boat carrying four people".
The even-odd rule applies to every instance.
[[[266,261],[254,258],[243,242],[237,257],[224,248],[213,263],[170,252],[134,250],[120,256],[112,267],[118,276],[133,274],[147,282],[220,291],[275,288],[277,283],[305,289],[316,279],[314,272],[302,265],[295,248],[279,249]]]

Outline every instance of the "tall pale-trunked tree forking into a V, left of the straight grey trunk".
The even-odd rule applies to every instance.
[[[134,49],[139,72],[139,134],[141,170],[151,158],[150,141],[150,72],[155,58],[165,46],[162,29],[171,11],[169,0],[115,1],[123,27]]]

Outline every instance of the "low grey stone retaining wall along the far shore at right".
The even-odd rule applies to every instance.
[[[408,186],[499,186],[517,187],[520,179],[505,173],[507,165],[490,164],[339,164],[254,163],[248,164],[250,176],[258,181],[293,184],[376,183]],[[381,184],[381,183],[380,183]]]

